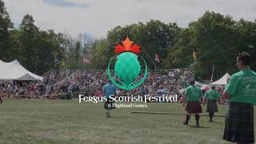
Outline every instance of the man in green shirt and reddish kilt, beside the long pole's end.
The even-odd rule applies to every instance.
[[[200,98],[203,96],[202,90],[198,88],[197,86],[194,86],[195,82],[194,80],[190,81],[190,86],[186,88],[185,91],[185,97],[183,101],[183,106],[186,104],[186,120],[183,122],[184,125],[188,125],[188,122],[190,120],[190,114],[195,114],[194,118],[196,120],[196,127],[199,127],[199,118],[200,113],[202,113],[202,107],[200,105]]]

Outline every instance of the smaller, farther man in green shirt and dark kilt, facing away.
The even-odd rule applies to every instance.
[[[207,110],[209,113],[209,122],[213,122],[214,112],[218,112],[217,101],[220,98],[217,91],[215,91],[215,86],[211,86],[211,89],[206,91],[203,105],[205,105],[207,99]]]

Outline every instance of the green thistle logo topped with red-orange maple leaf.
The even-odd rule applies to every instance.
[[[141,53],[140,46],[133,44],[134,41],[130,41],[127,37],[125,41],[122,41],[122,45],[115,46],[114,53],[118,54],[118,56],[114,64],[114,76],[117,78],[117,82],[111,76],[110,71],[110,64],[114,58],[110,59],[107,68],[107,74],[111,82],[122,90],[133,90],[142,85],[147,76],[146,62],[142,56],[138,56]],[[142,59],[142,63],[139,62],[139,58]],[[145,73],[142,75],[140,75],[142,71],[141,64],[145,66]]]

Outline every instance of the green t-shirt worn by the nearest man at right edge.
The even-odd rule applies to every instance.
[[[256,73],[246,69],[233,74],[226,93],[230,94],[230,102],[256,104]]]

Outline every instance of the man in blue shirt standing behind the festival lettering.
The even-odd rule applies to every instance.
[[[114,101],[110,97],[113,97],[117,95],[115,86],[112,85],[111,81],[109,80],[106,85],[102,87],[102,95],[106,98],[106,102],[104,102],[104,108],[106,109],[106,118],[110,118],[110,112],[111,110],[115,109],[114,107]]]

